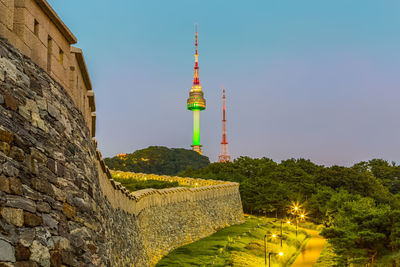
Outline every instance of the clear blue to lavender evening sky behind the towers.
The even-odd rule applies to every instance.
[[[201,143],[212,161],[222,85],[234,157],[400,159],[400,1],[49,2],[84,51],[105,156],[189,148],[198,23]]]

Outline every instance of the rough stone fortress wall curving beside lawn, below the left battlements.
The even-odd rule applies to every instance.
[[[0,266],[151,266],[239,223],[235,183],[129,193],[84,115],[0,38]]]

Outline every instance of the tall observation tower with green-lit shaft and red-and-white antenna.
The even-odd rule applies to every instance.
[[[202,154],[200,145],[200,111],[206,109],[206,100],[204,99],[204,93],[201,89],[199,79],[199,54],[197,53],[197,26],[195,33],[195,47],[196,53],[194,54],[194,75],[193,85],[189,92],[189,98],[187,100],[187,109],[193,111],[193,144],[192,149],[199,154]]]

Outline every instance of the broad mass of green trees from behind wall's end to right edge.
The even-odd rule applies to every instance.
[[[239,182],[247,213],[285,217],[290,202],[299,201],[310,220],[325,225],[322,234],[339,266],[391,257],[400,249],[400,166],[394,163],[325,167],[304,159],[241,157],[179,175]]]

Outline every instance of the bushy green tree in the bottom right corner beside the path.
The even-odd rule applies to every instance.
[[[346,201],[322,235],[333,244],[342,262],[365,264],[397,246],[392,229],[393,221],[398,220],[396,215],[398,211],[389,205],[377,205],[371,198]]]

